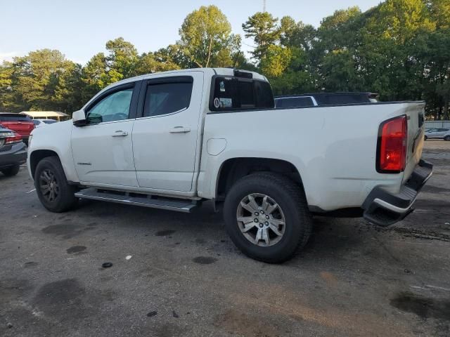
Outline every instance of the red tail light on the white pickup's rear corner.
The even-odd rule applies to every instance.
[[[399,173],[406,166],[406,141],[408,121],[406,116],[388,119],[378,131],[377,171]]]

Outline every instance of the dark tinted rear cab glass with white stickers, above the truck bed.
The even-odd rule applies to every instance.
[[[213,112],[274,108],[268,82],[259,79],[216,76],[212,79],[210,110]]]

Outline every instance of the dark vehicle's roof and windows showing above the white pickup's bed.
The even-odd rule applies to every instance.
[[[302,93],[277,96],[275,107],[317,107],[319,105],[378,102],[378,93]]]

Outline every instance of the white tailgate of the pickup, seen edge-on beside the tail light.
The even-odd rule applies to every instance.
[[[408,119],[408,148],[403,181],[411,176],[422,157],[425,102],[405,103],[404,114]]]

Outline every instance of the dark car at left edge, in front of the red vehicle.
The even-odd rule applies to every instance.
[[[15,176],[20,164],[27,161],[27,146],[22,136],[0,124],[0,172],[5,176]]]

